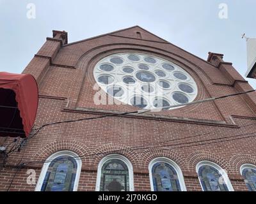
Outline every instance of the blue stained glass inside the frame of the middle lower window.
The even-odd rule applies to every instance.
[[[157,162],[152,166],[154,191],[181,191],[177,171],[168,163]]]

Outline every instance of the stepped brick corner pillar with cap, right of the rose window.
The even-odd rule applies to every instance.
[[[230,85],[232,85],[237,92],[253,90],[252,86],[236,71],[231,62],[223,61],[223,54],[209,52],[207,61],[220,69],[223,75],[230,81]],[[243,94],[241,97],[244,99],[244,102],[250,106],[252,112],[256,113],[256,92]]]

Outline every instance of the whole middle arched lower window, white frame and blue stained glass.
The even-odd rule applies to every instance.
[[[152,191],[186,191],[182,171],[172,160],[165,157],[153,159],[148,170]]]

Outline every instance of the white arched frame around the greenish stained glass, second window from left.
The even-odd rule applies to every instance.
[[[133,168],[132,168],[132,163],[127,159],[127,157],[122,156],[120,154],[109,154],[108,156],[102,158],[98,164],[98,171],[97,171],[97,181],[96,181],[96,189],[95,191],[100,191],[100,177],[101,177],[101,170],[102,166],[106,161],[109,161],[110,159],[119,159],[123,161],[129,171],[129,191],[134,191],[134,184],[133,184]]]

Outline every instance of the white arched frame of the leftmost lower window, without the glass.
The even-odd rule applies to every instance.
[[[54,154],[52,154],[51,156],[49,156],[45,160],[44,166],[42,167],[38,182],[36,184],[35,191],[41,191],[42,184],[44,183],[46,172],[49,168],[49,165],[51,164],[51,162],[47,162],[47,161],[52,161],[53,159],[56,159],[59,156],[76,157],[75,160],[76,160],[76,163],[77,163],[77,170],[76,170],[76,179],[75,179],[75,182],[74,182],[73,191],[77,191],[77,187],[78,187],[78,184],[79,184],[80,173],[81,173],[82,161],[76,153],[68,151],[68,150],[55,152]]]

